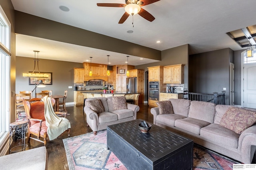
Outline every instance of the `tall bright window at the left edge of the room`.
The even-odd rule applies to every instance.
[[[0,144],[10,124],[10,22],[0,6]]]

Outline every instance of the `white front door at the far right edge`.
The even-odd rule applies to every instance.
[[[244,64],[244,107],[256,109],[256,64]]]

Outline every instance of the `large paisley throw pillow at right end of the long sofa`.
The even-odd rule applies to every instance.
[[[220,120],[220,125],[237,134],[256,123],[256,112],[238,107],[229,107]]]

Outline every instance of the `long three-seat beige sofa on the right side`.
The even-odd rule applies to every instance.
[[[160,109],[159,107],[151,109],[151,113],[154,115],[155,125],[188,137],[194,140],[194,143],[224,154],[244,164],[250,164],[252,162],[256,150],[256,125],[254,124],[246,130],[241,131],[241,134],[235,133],[233,129],[230,130],[223,127],[223,123],[230,119],[228,115],[233,114],[232,112],[230,113],[232,109],[241,109],[242,111],[245,109],[184,99],[169,99],[169,101],[174,114],[163,114],[162,106],[160,106]],[[159,114],[160,111],[162,111],[162,114]],[[255,119],[254,112],[250,113],[252,116],[249,116],[247,120]],[[222,117],[224,118],[222,119]],[[230,124],[235,121],[226,122]],[[233,127],[237,128],[240,124],[238,122]]]

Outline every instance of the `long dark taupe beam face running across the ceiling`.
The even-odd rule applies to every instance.
[[[15,32],[33,37],[161,60],[161,51],[15,11]]]

